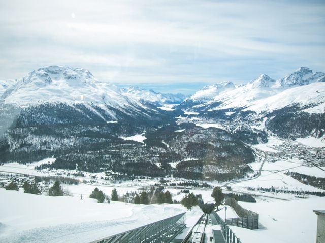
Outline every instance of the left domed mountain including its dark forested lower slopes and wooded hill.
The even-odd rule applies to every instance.
[[[0,130],[0,161],[54,157],[40,169],[105,171],[116,179],[174,175],[225,180],[247,175],[255,154],[236,137],[223,130],[176,125],[182,111],[156,108],[180,99],[151,90],[120,90],[85,69],[39,68],[1,96],[0,118],[6,124]],[[189,129],[176,132],[184,128]],[[125,139],[139,134],[147,137],[144,143]]]

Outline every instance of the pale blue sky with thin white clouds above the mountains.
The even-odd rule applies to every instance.
[[[0,79],[42,66],[193,93],[224,80],[325,71],[325,1],[0,0]]]

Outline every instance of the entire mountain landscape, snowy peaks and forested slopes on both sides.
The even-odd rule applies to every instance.
[[[244,80],[243,80],[244,81]],[[325,134],[325,73],[209,85],[190,97],[118,88],[81,68],[0,82],[0,162],[105,172],[105,179],[252,177],[260,144]],[[324,165],[319,165],[324,166]],[[145,170],[144,170],[145,168]]]

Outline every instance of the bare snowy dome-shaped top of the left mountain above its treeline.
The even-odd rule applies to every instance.
[[[67,102],[128,106],[118,87],[99,82],[88,70],[61,66],[42,67],[9,87],[5,103]]]

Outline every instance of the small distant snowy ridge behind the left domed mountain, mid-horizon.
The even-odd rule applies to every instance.
[[[138,86],[130,86],[121,89],[122,94],[127,97],[131,97],[142,103],[153,103],[158,105],[163,104],[179,104],[186,96],[183,94],[163,94],[155,92],[153,90],[141,89]]]

